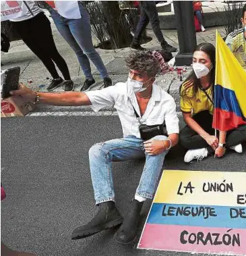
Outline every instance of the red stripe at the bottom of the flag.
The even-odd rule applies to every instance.
[[[223,109],[214,109],[213,128],[217,130],[233,130],[246,124],[243,118],[237,116],[234,112],[225,111]]]

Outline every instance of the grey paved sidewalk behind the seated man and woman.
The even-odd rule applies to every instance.
[[[47,16],[49,17],[49,13],[47,13]],[[61,55],[64,57],[65,61],[67,62],[67,65],[69,67],[69,70],[71,72],[71,78],[75,82],[75,91],[80,91],[80,88],[82,87],[82,84],[84,83],[84,74],[80,68],[80,65],[78,63],[78,59],[75,56],[75,53],[71,50],[69,45],[64,41],[62,36],[57,31],[57,28],[55,27],[55,24],[53,23],[53,20],[49,17],[51,20],[51,26],[53,29],[53,36],[55,43],[57,45],[57,49],[61,53]],[[215,45],[215,31],[218,29],[220,34],[224,36],[224,27],[214,27],[214,28],[208,28],[206,32],[197,32],[197,44],[208,42],[213,43]],[[178,38],[177,38],[177,30],[162,30],[164,37],[166,38],[166,41],[170,43],[171,45],[175,47],[179,47],[178,45]],[[154,35],[154,32],[152,30],[148,30],[147,32],[148,36],[152,37],[152,41],[142,45],[143,47],[146,47],[146,49],[160,49],[160,44],[158,43],[156,36]],[[98,40],[95,38],[95,36],[92,36],[93,43],[96,45],[98,43]],[[127,68],[125,66],[124,59],[129,55],[131,51],[135,51],[130,49],[129,47],[125,49],[117,49],[117,50],[103,50],[103,49],[97,49],[98,53],[102,57],[102,60],[104,61],[104,64],[109,71],[109,75],[111,76],[113,80],[113,84],[116,84],[117,82],[124,82],[127,80]],[[174,53],[173,55],[175,55]],[[1,53],[1,62],[3,63],[3,66],[1,66],[1,70],[11,68],[14,66],[20,66],[21,68],[21,76],[20,81],[24,82],[24,84],[28,85],[30,88],[34,89],[35,91],[47,91],[47,84],[48,80],[47,77],[51,77],[49,75],[49,72],[47,69],[43,66],[42,62],[26,47],[23,41],[15,41],[11,42],[11,48],[9,50],[9,53]],[[102,79],[100,78],[100,75],[98,74],[96,68],[92,64],[92,72],[94,74],[94,78],[96,80],[96,85],[92,88],[92,90],[96,90],[102,86]],[[189,74],[189,70],[184,74],[186,77]],[[184,77],[184,78],[185,78]],[[174,78],[172,84],[170,84],[171,80]],[[33,82],[31,84],[28,84],[28,80],[32,80]],[[179,86],[181,85],[182,81],[180,81],[177,78],[176,72],[170,72],[168,74],[160,75],[157,77],[158,85],[163,88],[164,90],[167,90],[170,86],[170,94],[175,98],[175,101],[177,103],[177,111],[179,111]],[[44,86],[43,86],[44,85]],[[57,88],[55,91],[63,91],[63,88]],[[67,108],[67,111],[90,111],[90,107],[80,107],[80,108]],[[54,107],[54,106],[39,106],[36,112],[47,112],[47,111],[53,111],[57,112],[60,111],[60,107]]]

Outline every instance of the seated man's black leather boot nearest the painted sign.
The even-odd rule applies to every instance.
[[[137,235],[137,228],[140,224],[140,212],[144,202],[135,199],[131,201],[131,205],[127,216],[124,218],[123,224],[115,233],[115,241],[121,245],[128,245],[133,242]]]

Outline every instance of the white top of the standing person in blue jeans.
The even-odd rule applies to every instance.
[[[80,7],[78,1],[54,1],[57,12],[67,19],[80,19]]]

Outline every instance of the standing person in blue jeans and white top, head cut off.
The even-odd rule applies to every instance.
[[[80,91],[86,91],[95,84],[90,68],[90,61],[94,63],[103,79],[104,87],[112,85],[112,80],[106,71],[104,63],[92,43],[90,16],[81,1],[46,1],[57,30],[75,52],[80,66],[86,76]]]

